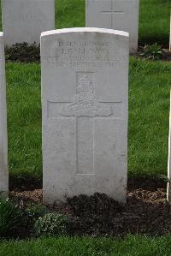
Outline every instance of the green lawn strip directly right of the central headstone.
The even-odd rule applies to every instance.
[[[166,174],[171,65],[132,59],[128,170],[133,176]]]

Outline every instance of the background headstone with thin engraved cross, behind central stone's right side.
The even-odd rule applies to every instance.
[[[126,31],[130,53],[138,51],[139,0],[85,0],[86,27],[106,27]]]

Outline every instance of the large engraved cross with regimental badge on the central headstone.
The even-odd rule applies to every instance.
[[[76,175],[94,175],[94,152],[96,147],[96,123],[104,118],[121,116],[122,104],[98,102],[93,72],[78,72],[76,94],[73,102],[49,102],[49,118],[74,118],[76,134]],[[92,118],[94,117],[94,118]]]

